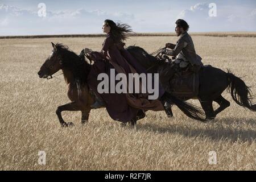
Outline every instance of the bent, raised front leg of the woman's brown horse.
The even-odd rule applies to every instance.
[[[72,122],[66,123],[64,119],[61,116],[62,111],[80,111],[83,110],[81,103],[79,101],[72,101],[68,104],[62,105],[57,107],[56,114],[59,118],[60,125],[63,127],[73,126],[74,124]]]

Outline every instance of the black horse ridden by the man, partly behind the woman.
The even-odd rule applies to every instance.
[[[129,46],[127,50],[150,72],[158,73],[160,67],[168,66],[167,63],[159,61],[141,47]],[[226,73],[211,66],[202,67],[199,71],[199,94],[196,98],[199,99],[205,111],[205,120],[214,119],[218,113],[230,106],[230,102],[221,96],[226,88],[238,105],[256,111],[256,104],[252,104],[251,90],[241,78],[234,76],[229,71]],[[213,110],[213,101],[220,105],[216,110]]]

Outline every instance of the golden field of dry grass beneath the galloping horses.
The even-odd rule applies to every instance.
[[[230,69],[256,93],[256,38],[192,36],[204,64]],[[64,43],[76,53],[100,50],[104,38],[43,38],[0,40],[0,169],[1,170],[255,170],[256,113],[231,102],[215,121],[202,123],[176,106],[174,117],[148,111],[137,131],[120,127],[105,109],[92,110],[82,126],[80,112],[63,112],[75,127],[61,128],[55,110],[69,102],[67,85],[40,79],[40,66]],[[153,52],[175,36],[137,36],[127,40]],[[60,72],[57,72],[60,73]],[[254,100],[255,101],[255,100]],[[200,106],[199,101],[190,101]],[[214,105],[215,107],[217,104]],[[46,165],[38,152],[46,152]],[[209,164],[216,151],[217,164]]]

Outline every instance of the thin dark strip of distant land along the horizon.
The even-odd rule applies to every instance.
[[[192,36],[233,36],[233,37],[256,37],[256,32],[192,32]],[[176,36],[175,33],[134,33],[130,36]],[[70,35],[15,35],[0,36],[0,39],[35,39],[35,38],[98,38],[105,34],[70,34]]]

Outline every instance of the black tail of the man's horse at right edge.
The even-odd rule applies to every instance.
[[[229,79],[228,91],[231,93],[233,100],[240,106],[256,111],[256,104],[252,104],[253,96],[249,86],[231,72],[228,71],[227,75]]]

